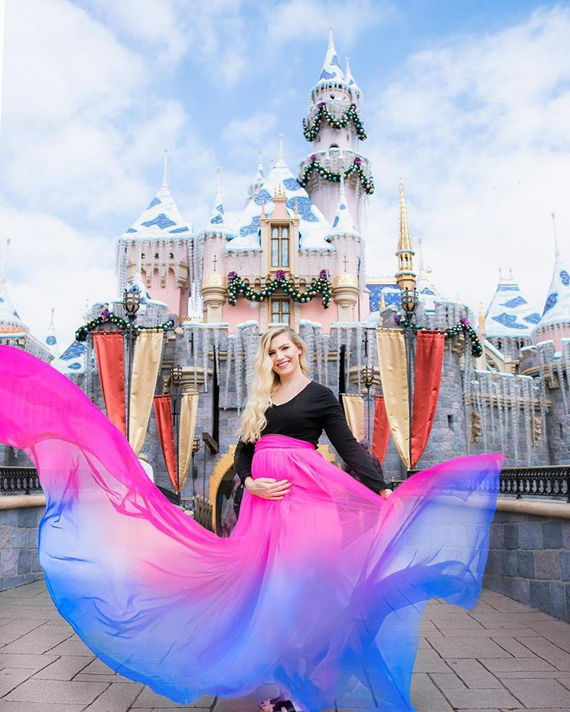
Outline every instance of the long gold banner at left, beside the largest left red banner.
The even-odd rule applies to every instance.
[[[130,383],[129,442],[136,454],[140,453],[147,435],[162,355],[163,335],[163,331],[143,330],[139,333],[135,345]]]

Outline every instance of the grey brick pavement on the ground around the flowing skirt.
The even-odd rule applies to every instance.
[[[413,702],[418,712],[570,712],[570,624],[488,590],[470,612],[431,602]],[[252,698],[207,696],[177,705],[96,659],[61,619],[43,582],[0,593],[0,712],[257,712],[258,706]],[[362,690],[353,710],[372,709],[378,708]]]

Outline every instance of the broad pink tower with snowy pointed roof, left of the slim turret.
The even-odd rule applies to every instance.
[[[187,315],[194,278],[192,226],[180,214],[167,184],[165,152],[162,184],[137,221],[118,240],[118,296],[138,269],[155,300],[181,319]]]

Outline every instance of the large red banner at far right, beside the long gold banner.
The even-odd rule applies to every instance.
[[[430,439],[440,394],[445,337],[440,331],[418,331],[415,352],[415,390],[412,417],[412,467],[418,464]]]

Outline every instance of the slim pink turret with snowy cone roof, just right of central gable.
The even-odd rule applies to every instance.
[[[336,247],[333,299],[338,304],[338,320],[353,321],[354,308],[358,302],[358,263],[362,256],[363,244],[348,207],[343,176],[330,241]]]

